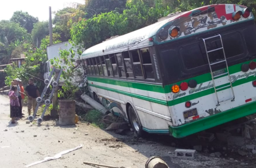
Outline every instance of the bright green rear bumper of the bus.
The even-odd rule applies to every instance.
[[[251,102],[178,127],[169,126],[169,133],[175,138],[183,138],[254,113],[256,113],[256,102]]]

